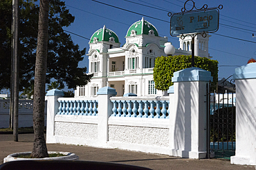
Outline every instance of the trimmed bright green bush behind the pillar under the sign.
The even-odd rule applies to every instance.
[[[194,66],[211,72],[213,82],[218,81],[218,61],[194,56]],[[156,89],[167,90],[172,83],[174,72],[191,67],[191,56],[160,56],[155,61],[154,82]]]

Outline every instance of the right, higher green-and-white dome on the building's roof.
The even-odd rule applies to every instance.
[[[148,21],[144,20],[144,18],[142,18],[141,20],[135,22],[130,26],[126,36],[134,36],[138,34],[158,36],[158,31],[156,30],[154,25],[152,25]]]

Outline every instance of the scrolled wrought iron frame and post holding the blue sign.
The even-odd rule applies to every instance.
[[[192,6],[192,8],[190,9],[190,10],[188,10],[187,8],[186,8],[186,4],[189,2],[189,1],[192,1],[192,3],[193,3],[193,6]],[[195,6],[195,2],[193,1],[193,0],[187,0],[187,1],[185,1],[185,3],[184,3],[184,7],[183,8],[181,8],[181,12],[177,12],[177,13],[173,13],[172,14],[172,12],[168,12],[168,16],[169,17],[171,17],[170,18],[170,35],[171,36],[177,36],[177,35],[172,35],[172,17],[174,16],[174,15],[178,15],[178,14],[189,14],[189,13],[195,13],[195,12],[205,12],[205,11],[207,11],[207,10],[217,10],[218,11],[218,14],[219,14],[219,10],[221,10],[223,8],[223,6],[222,5],[219,5],[218,7],[213,7],[213,8],[208,8],[208,5],[207,4],[204,4],[203,5],[203,7],[202,8],[196,8],[196,6]],[[193,10],[193,9],[195,9],[195,10]],[[219,18],[218,18],[218,23],[217,23],[217,30],[219,30]],[[198,34],[201,34],[201,36],[203,36],[203,38],[205,38],[206,36],[207,36],[207,34],[206,33],[211,33],[211,32],[217,32],[217,30],[214,30],[214,31],[210,31],[210,32],[205,32],[205,31],[203,31],[203,32],[196,32],[196,33],[188,33],[188,34],[181,34],[181,39],[183,40],[183,39],[185,39],[185,37],[186,36],[191,36],[191,38],[192,38],[192,43],[191,43],[191,47],[192,47],[192,67],[194,67],[194,38],[195,38],[195,36],[196,35],[198,35]]]

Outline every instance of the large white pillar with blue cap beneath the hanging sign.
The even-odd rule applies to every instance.
[[[205,158],[206,83],[210,72],[191,67],[174,72],[174,98],[170,100],[170,155]],[[172,94],[170,94],[172,95]],[[171,104],[172,102],[172,104]]]

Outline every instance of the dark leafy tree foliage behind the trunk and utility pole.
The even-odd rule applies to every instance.
[[[37,1],[37,0],[35,0]],[[20,1],[19,21],[19,82],[20,91],[30,85],[35,75],[35,55],[37,47],[39,6],[34,0]],[[66,83],[68,88],[85,85],[92,75],[86,75],[86,67],[78,67],[82,61],[85,48],[79,49],[66,34],[63,27],[73,23],[75,17],[60,0],[50,1],[48,23],[48,56],[46,83],[55,78],[57,83]],[[0,1],[0,89],[10,88],[11,65],[11,24],[12,0]]]

